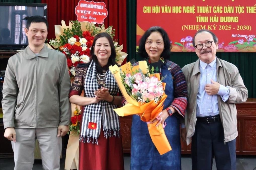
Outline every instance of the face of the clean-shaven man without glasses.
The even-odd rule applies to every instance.
[[[44,22],[32,22],[28,29],[25,28],[25,34],[28,37],[29,46],[44,46],[48,34],[47,26]]]

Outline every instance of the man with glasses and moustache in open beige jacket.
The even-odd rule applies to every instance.
[[[182,68],[188,85],[185,114],[187,145],[193,169],[236,169],[236,103],[247,100],[247,88],[236,66],[218,59],[218,38],[199,30],[194,38],[198,60]]]

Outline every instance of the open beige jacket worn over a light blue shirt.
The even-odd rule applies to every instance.
[[[185,114],[185,125],[187,130],[187,145],[195,133],[196,126],[196,100],[200,80],[199,59],[187,64],[182,68],[188,85],[188,106]],[[236,66],[216,57],[217,82],[223,86],[229,86],[229,99],[226,102],[218,96],[220,119],[224,129],[223,142],[235,139],[237,132],[237,109],[236,103],[247,100],[248,91],[243,84],[243,79]]]

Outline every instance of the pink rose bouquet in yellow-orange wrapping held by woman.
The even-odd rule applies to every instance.
[[[141,120],[148,123],[151,139],[162,155],[172,150],[164,133],[162,124],[155,126],[151,123],[163,110],[163,103],[167,97],[164,93],[165,83],[160,80],[159,73],[150,74],[146,61],[139,61],[138,66],[131,66],[128,62],[118,68],[117,65],[109,69],[114,75],[121,93],[128,102],[125,106],[114,109],[119,116],[138,114]]]

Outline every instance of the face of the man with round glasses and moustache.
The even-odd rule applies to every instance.
[[[204,44],[207,41],[213,41],[211,43],[211,47],[209,47],[209,48],[207,48]],[[195,45],[197,45],[197,44],[204,44],[203,49],[201,49],[201,50],[198,50],[197,48],[195,48],[198,58],[202,62],[205,62],[207,64],[212,62],[216,56],[216,52],[218,49],[218,42],[214,43],[212,35],[209,32],[203,31],[203,32],[198,33],[195,36]]]

